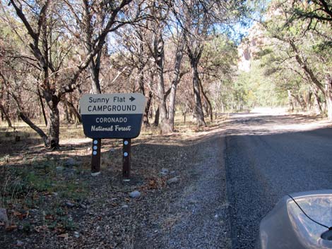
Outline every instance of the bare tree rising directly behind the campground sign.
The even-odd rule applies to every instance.
[[[142,1],[65,1],[71,12],[70,23],[66,25],[69,32],[78,37],[83,45],[85,57],[94,54],[88,63],[91,89],[101,93],[100,63],[102,48],[107,35],[123,25],[135,23],[142,18]],[[131,11],[135,9],[135,11]],[[74,23],[71,24],[71,22]],[[76,28],[73,28],[76,27]]]

